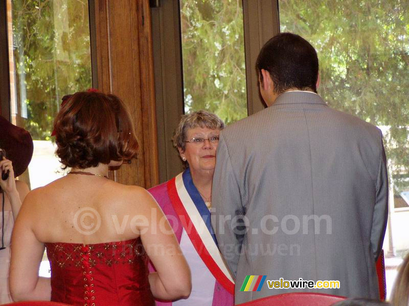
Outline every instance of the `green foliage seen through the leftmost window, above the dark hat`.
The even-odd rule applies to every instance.
[[[88,2],[14,0],[12,27],[25,128],[33,139],[49,139],[61,97],[92,86]]]

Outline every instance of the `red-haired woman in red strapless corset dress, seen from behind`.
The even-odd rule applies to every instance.
[[[61,107],[54,130],[56,154],[71,171],[31,191],[21,207],[12,236],[12,297],[127,306],[188,296],[189,267],[169,223],[160,224],[166,218],[155,200],[141,187],[107,178],[109,166],[138,149],[122,101],[77,92]],[[38,276],[44,247],[51,279]],[[149,274],[148,257],[157,272]]]

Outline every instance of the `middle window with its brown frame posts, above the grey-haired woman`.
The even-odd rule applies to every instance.
[[[160,182],[183,170],[172,135],[180,116],[206,109],[226,123],[264,108],[254,68],[278,31],[269,0],[152,2]]]

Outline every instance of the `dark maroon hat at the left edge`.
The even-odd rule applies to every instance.
[[[0,116],[0,148],[13,163],[14,176],[21,175],[33,157],[33,139],[29,132]]]

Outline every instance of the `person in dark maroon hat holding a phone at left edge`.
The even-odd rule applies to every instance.
[[[26,183],[15,180],[30,164],[33,156],[33,140],[30,133],[0,116],[0,197],[2,218],[0,220],[0,304],[12,302],[9,290],[11,256],[11,232],[29,188]],[[4,179],[4,180],[3,180]]]

